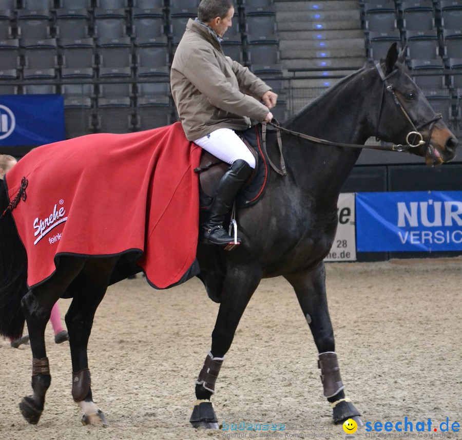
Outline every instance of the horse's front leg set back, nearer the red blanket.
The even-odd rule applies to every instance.
[[[196,380],[196,405],[189,422],[195,428],[218,429],[218,420],[210,402],[224,355],[231,347],[239,321],[261,281],[259,267],[228,267],[221,292],[221,304],[207,353]]]

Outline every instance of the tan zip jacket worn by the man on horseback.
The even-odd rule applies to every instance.
[[[269,111],[259,100],[271,87],[225,56],[208,29],[192,19],[175,52],[170,83],[189,141],[219,128],[245,130]]]

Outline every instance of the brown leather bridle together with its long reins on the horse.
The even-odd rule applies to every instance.
[[[272,168],[276,171],[276,173],[280,174],[281,176],[286,175],[286,170],[285,170],[285,162],[284,162],[284,157],[282,156],[282,139],[281,139],[281,131],[288,133],[292,136],[297,136],[298,138],[305,139],[307,141],[315,142],[317,144],[322,144],[322,145],[330,145],[334,147],[347,147],[347,148],[368,148],[368,149],[374,149],[374,150],[382,150],[382,151],[408,151],[411,148],[419,147],[421,145],[427,145],[429,146],[430,138],[431,138],[431,133],[433,130],[433,126],[436,121],[442,118],[441,113],[435,113],[435,117],[431,119],[430,121],[424,122],[423,124],[420,124],[418,127],[415,127],[414,123],[412,122],[411,118],[409,117],[409,114],[406,112],[406,109],[402,106],[401,102],[399,101],[398,97],[396,96],[396,93],[393,90],[393,86],[388,82],[388,79],[390,76],[393,76],[397,70],[394,70],[391,72],[389,75],[385,75],[383,73],[382,67],[380,66],[380,63],[377,63],[375,65],[380,79],[383,82],[383,91],[381,94],[381,102],[380,102],[380,110],[379,110],[379,117],[378,117],[378,123],[377,123],[377,130],[378,127],[380,126],[380,121],[381,121],[381,116],[382,116],[382,108],[383,108],[383,97],[385,94],[385,90],[387,90],[392,98],[393,102],[395,105],[400,109],[401,113],[403,114],[403,117],[407,120],[409,125],[412,127],[412,131],[410,131],[406,135],[406,142],[407,144],[392,144],[392,145],[364,145],[364,144],[345,144],[342,142],[332,142],[332,141],[327,141],[325,139],[320,139],[316,138],[314,136],[309,136],[305,135],[304,133],[300,133],[298,131],[293,131],[288,128],[282,127],[279,122],[276,119],[273,119],[271,122],[268,124],[276,128],[276,133],[277,133],[277,140],[278,140],[278,148],[279,148],[279,155],[280,155],[280,169],[274,165],[274,163],[269,159],[269,156],[266,152],[266,123],[262,123],[262,129],[261,129],[261,138],[262,138],[262,144],[263,144],[263,149],[266,152],[266,156],[268,157],[269,164],[272,166]],[[427,140],[424,141],[424,137],[421,135],[421,133],[418,131],[422,127],[425,127],[426,125],[430,125],[429,127],[429,133]],[[411,143],[411,136],[413,137]],[[376,138],[378,140],[378,138]]]

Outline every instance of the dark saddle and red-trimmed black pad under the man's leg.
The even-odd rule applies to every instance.
[[[255,170],[245,183],[236,198],[236,207],[247,207],[255,204],[263,196],[268,178],[268,157],[262,148],[261,125],[248,128],[245,131],[236,131],[249,151],[255,158]],[[199,167],[194,171],[199,174],[200,182],[200,208],[208,210],[215,197],[221,178],[229,169],[229,164],[202,150]]]

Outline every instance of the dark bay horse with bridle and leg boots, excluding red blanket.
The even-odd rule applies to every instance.
[[[380,65],[367,65],[302,109],[285,128],[308,132],[331,142],[364,144],[371,136],[408,145],[408,133],[423,139],[412,152],[427,164],[454,158],[457,140],[432,110],[402,66],[394,44]],[[191,416],[195,427],[217,428],[210,397],[239,320],[262,278],[283,276],[293,286],[319,352],[324,395],[335,423],[359,412],[347,398],[335,354],[334,333],[325,292],[323,258],[337,226],[337,199],[360,148],[320,145],[283,133],[286,176],[270,173],[265,197],[238,212],[242,244],[232,252],[199,245],[200,278],[210,297],[220,302],[211,349],[196,381],[198,399]],[[414,142],[415,143],[415,142]],[[268,150],[276,140],[268,139]],[[0,213],[7,205],[0,192]],[[11,213],[0,223],[0,334],[21,335],[24,320],[33,355],[33,394],[20,409],[36,424],[44,409],[51,376],[44,332],[53,304],[66,292],[72,297],[66,314],[72,358],[72,396],[83,411],[82,423],[106,424],[90,387],[87,343],[93,316],[119,257],[63,257],[55,274],[28,291],[27,258]],[[247,374],[251,374],[248,372]]]

